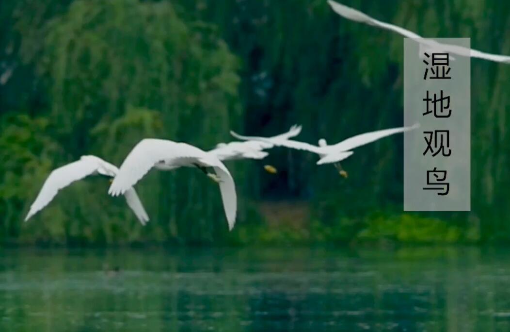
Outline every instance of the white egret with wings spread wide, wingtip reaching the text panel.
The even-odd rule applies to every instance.
[[[321,139],[319,139],[319,146],[300,142],[297,140],[274,139],[274,138],[257,137],[257,136],[243,136],[243,135],[239,135],[233,131],[231,131],[230,133],[232,134],[232,136],[234,136],[238,139],[261,140],[261,141],[273,144],[275,146],[287,147],[287,148],[297,149],[297,150],[305,150],[305,151],[310,151],[310,152],[316,153],[320,157],[319,161],[317,161],[318,165],[322,165],[325,163],[334,163],[334,165],[337,168],[337,170],[339,171],[340,175],[342,175],[343,177],[347,177],[347,172],[345,172],[342,169],[342,167],[340,165],[340,161],[349,157],[353,153],[350,150],[352,150],[354,148],[361,147],[362,145],[371,143],[371,142],[376,141],[380,138],[390,136],[393,134],[397,134],[397,133],[401,133],[401,132],[405,132],[408,130],[412,130],[417,127],[418,127],[418,125],[414,125],[411,127],[399,127],[399,128],[391,128],[391,129],[372,131],[372,132],[352,136],[352,137],[347,138],[335,145],[327,145],[326,140],[324,138],[321,138]]]

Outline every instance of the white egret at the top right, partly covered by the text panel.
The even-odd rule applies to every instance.
[[[480,52],[477,50],[468,49],[463,46],[443,44],[443,43],[439,43],[437,41],[427,40],[414,32],[405,30],[403,28],[392,25],[390,23],[381,22],[373,17],[368,16],[367,14],[364,14],[364,13],[362,13],[358,10],[355,10],[353,8],[341,5],[337,2],[328,0],[327,3],[340,16],[343,16],[343,17],[353,20],[353,21],[366,23],[368,25],[378,27],[381,29],[390,30],[390,31],[396,32],[404,37],[407,37],[407,38],[413,38],[417,42],[420,43],[420,46],[423,46],[425,49],[430,49],[435,52],[437,52],[437,51],[448,52],[448,53],[457,54],[457,55],[461,55],[461,56],[465,56],[465,57],[473,57],[473,58],[485,59],[485,60],[490,60],[490,61],[495,61],[495,62],[510,63],[510,56],[507,56],[507,55],[484,53],[484,52]]]

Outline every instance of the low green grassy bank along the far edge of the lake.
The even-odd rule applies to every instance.
[[[151,227],[163,227],[154,225]],[[327,224],[317,219],[307,222],[275,223],[267,220],[239,223],[232,232],[222,234],[219,239],[190,240],[167,238],[156,240],[140,235],[135,239],[114,238],[106,241],[85,236],[64,236],[59,241],[41,239],[37,234],[21,235],[18,240],[4,241],[3,247],[147,247],[147,246],[200,246],[200,247],[245,247],[245,246],[394,246],[394,245],[449,245],[485,243],[507,243],[506,241],[484,241],[475,225],[460,225],[455,221],[423,217],[411,214],[372,213],[365,217],[339,217]],[[129,236],[128,236],[129,238]],[[160,238],[161,239],[161,238]]]

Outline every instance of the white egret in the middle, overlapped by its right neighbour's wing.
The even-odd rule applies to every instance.
[[[297,136],[301,132],[301,126],[293,125],[288,132],[269,137],[270,139],[289,139]],[[216,148],[208,151],[220,160],[238,160],[238,159],[264,159],[268,153],[264,149],[270,149],[273,145],[260,140],[247,140],[242,142],[219,143]],[[269,173],[276,173],[276,169],[271,165],[264,165],[264,169]]]

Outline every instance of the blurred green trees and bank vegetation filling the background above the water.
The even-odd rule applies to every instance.
[[[344,0],[425,37],[510,54],[510,3]],[[472,59],[472,211],[402,212],[402,136],[362,147],[350,177],[273,149],[228,162],[239,217],[194,170],[137,185],[141,227],[109,183],[75,183],[24,224],[45,177],[94,154],[120,165],[144,137],[211,149],[228,131],[330,142],[402,125],[403,39],[325,0],[0,2],[0,242],[175,244],[507,242],[510,66]],[[279,170],[269,175],[262,165]]]

